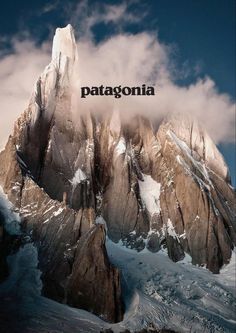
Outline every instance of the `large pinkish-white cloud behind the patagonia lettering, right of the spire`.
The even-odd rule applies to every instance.
[[[187,87],[175,83],[171,49],[150,33],[116,35],[95,44],[78,42],[81,86],[155,85],[155,96],[107,96],[80,98],[78,109],[105,111],[116,108],[123,115],[144,114],[160,119],[169,113],[192,115],[216,143],[233,142],[235,104],[217,91],[209,77],[198,78]],[[174,73],[173,73],[174,72]]]

